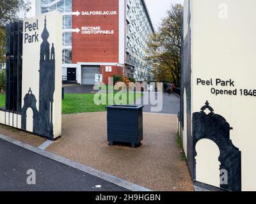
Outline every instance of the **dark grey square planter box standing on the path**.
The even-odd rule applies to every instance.
[[[113,105],[108,110],[108,142],[131,143],[132,147],[143,140],[143,106]]]

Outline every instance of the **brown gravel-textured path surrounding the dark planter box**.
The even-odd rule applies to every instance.
[[[63,115],[63,136],[46,150],[154,191],[193,191],[177,147],[177,117],[143,114],[141,147],[109,146],[106,112]]]

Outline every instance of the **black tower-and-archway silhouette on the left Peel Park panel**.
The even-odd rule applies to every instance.
[[[40,69],[39,69],[39,110],[36,108],[36,98],[29,88],[24,98],[22,108],[22,129],[27,130],[27,110],[33,110],[33,133],[53,138],[52,111],[55,91],[55,49],[48,42],[49,32],[44,20],[44,31],[42,32],[42,44],[40,45]]]

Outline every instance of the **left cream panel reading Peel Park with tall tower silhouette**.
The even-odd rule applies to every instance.
[[[62,17],[52,11],[24,19],[21,128],[61,135]]]

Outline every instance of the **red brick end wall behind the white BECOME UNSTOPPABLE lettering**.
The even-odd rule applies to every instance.
[[[75,15],[72,27],[100,26],[114,34],[72,33],[72,62],[118,62],[118,0],[73,0],[73,11],[117,11],[117,15]]]

